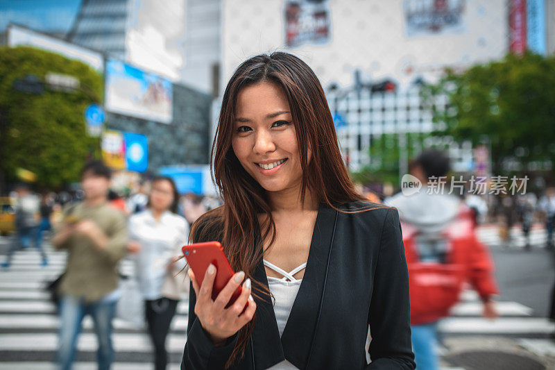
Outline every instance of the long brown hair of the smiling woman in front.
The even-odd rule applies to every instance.
[[[287,96],[296,129],[300,164],[302,168],[301,202],[308,189],[318,202],[345,213],[337,207],[350,201],[366,201],[355,190],[348,170],[341,158],[334,122],[318,78],[310,67],[289,53],[261,54],[243,62],[230,78],[221,104],[216,136],[210,153],[212,180],[219,187],[223,205],[206,212],[191,226],[190,242],[220,240],[234,271],[243,270],[253,281],[253,295],[269,296],[268,287],[253,279],[264,251],[262,241],[272,233],[270,246],[275,241],[275,223],[271,215],[266,191],[242,167],[232,149],[233,122],[237,95],[246,86],[262,81],[276,83]],[[307,149],[312,158],[307,164]],[[257,214],[267,217],[260,229],[262,240],[257,239]],[[197,235],[198,234],[198,235]],[[255,319],[255,318],[254,318]],[[254,319],[239,330],[227,369],[238,357],[244,355],[246,344],[253,331]]]

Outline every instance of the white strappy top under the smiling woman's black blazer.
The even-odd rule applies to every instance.
[[[275,266],[271,262],[263,260],[264,266],[273,269],[273,271],[278,274],[282,274],[283,278],[275,278],[273,276],[268,276],[268,288],[273,295],[273,311],[275,313],[275,320],[278,321],[278,330],[280,330],[280,337],[283,334],[285,324],[287,319],[289,319],[289,314],[291,313],[291,308],[293,307],[293,302],[299,291],[300,283],[302,279],[293,278],[293,275],[297,274],[298,271],[304,269],[307,266],[307,262],[300,264],[300,266],[287,272],[280,267]],[[291,362],[283,360],[278,364],[270,367],[271,370],[291,370],[298,369]]]

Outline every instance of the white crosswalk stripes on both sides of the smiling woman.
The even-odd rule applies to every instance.
[[[533,230],[540,235],[543,230]],[[487,244],[495,244],[495,234],[481,230],[480,237]],[[518,240],[518,234],[515,233]],[[540,245],[540,236],[534,236]],[[3,238],[6,242],[6,238]],[[499,244],[497,244],[499,245]],[[516,244],[518,247],[518,244]],[[53,358],[57,348],[58,317],[44,290],[44,282],[53,280],[65,266],[63,251],[47,251],[49,265],[40,267],[37,251],[19,251],[7,271],[0,271],[0,369],[54,369]],[[132,274],[133,265],[124,260],[123,274]],[[439,324],[442,337],[499,336],[515,338],[523,347],[536,353],[555,356],[555,346],[545,338],[555,331],[555,324],[534,317],[533,310],[518,302],[497,302],[499,318],[494,321],[481,317],[481,302],[475,292],[465,290],[461,302],[452,309],[452,315]],[[179,369],[187,329],[188,303],[178,305],[167,348],[168,369]],[[113,369],[152,369],[152,346],[144,328],[132,323],[114,320],[114,348],[116,363]],[[74,369],[96,369],[96,337],[92,320],[83,321],[83,332],[78,342],[78,355]]]

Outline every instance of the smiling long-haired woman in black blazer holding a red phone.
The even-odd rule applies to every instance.
[[[398,212],[355,190],[305,62],[276,52],[237,68],[210,159],[224,203],[189,240],[221,242],[237,273],[212,300],[215,267],[201,286],[189,271],[181,368],[414,369]]]

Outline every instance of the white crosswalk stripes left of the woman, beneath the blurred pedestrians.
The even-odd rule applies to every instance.
[[[6,238],[3,238],[6,243]],[[40,255],[31,249],[14,255],[8,270],[0,271],[0,369],[55,369],[58,347],[58,317],[44,289],[65,266],[63,251],[47,251],[49,265],[40,267]],[[133,264],[123,260],[120,271],[133,273]],[[169,370],[180,369],[187,331],[187,301],[178,304],[167,339]],[[153,348],[144,328],[114,319],[116,362],[114,370],[153,369]],[[83,319],[78,341],[76,370],[96,369],[96,336],[92,319]]]

